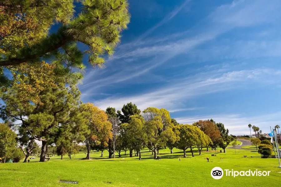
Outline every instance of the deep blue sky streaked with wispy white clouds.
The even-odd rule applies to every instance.
[[[87,68],[83,102],[213,118],[235,135],[281,123],[280,1],[129,2],[128,30],[106,69]]]

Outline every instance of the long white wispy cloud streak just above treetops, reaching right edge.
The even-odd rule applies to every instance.
[[[94,103],[102,109],[108,106],[121,109],[124,103],[133,102],[143,110],[149,106],[166,108],[171,111],[180,111],[186,108],[186,104],[191,98],[201,95],[221,92],[238,87],[248,86],[249,84],[273,84],[271,81],[280,82],[281,71],[271,69],[255,69],[232,71],[221,74],[196,74],[178,82],[174,80],[169,85],[156,89],[148,90],[136,95],[113,96],[106,99],[95,101]],[[199,77],[199,78],[196,78]],[[199,108],[193,108],[199,109]],[[188,109],[187,109],[188,110]]]

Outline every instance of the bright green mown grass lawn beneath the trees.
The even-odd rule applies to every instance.
[[[176,186],[273,186],[279,183],[281,169],[277,168],[278,160],[274,158],[261,159],[257,151],[227,149],[227,153],[203,151],[199,156],[181,158],[181,150],[160,150],[161,160],[153,160],[151,152],[142,151],[142,160],[138,157],[124,156],[121,158],[107,159],[108,153],[100,157],[101,152],[92,152],[92,160],[83,160],[84,153],[79,153],[75,159],[70,160],[67,156],[60,160],[60,156],[51,157],[49,162],[38,162],[39,158],[32,159],[30,163],[7,163],[0,164],[1,187],[176,187]],[[219,152],[219,151],[217,151]],[[127,152],[129,154],[129,151]],[[243,156],[247,155],[248,158]],[[251,158],[253,156],[253,158]],[[207,162],[204,157],[209,157]],[[214,167],[234,170],[271,170],[270,176],[223,176],[220,180],[211,177],[210,172]],[[225,174],[224,174],[225,175]],[[59,180],[78,181],[78,184],[60,183]]]

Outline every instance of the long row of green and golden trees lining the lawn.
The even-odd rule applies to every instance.
[[[212,119],[195,122],[193,125],[180,125],[166,109],[147,108],[142,112],[135,104],[128,103],[122,111],[107,108],[106,111],[92,103],[79,101],[80,91],[75,85],[66,86],[64,79],[40,92],[40,103],[20,100],[21,93],[8,88],[2,93],[2,119],[17,129],[17,141],[26,158],[32,154],[34,140],[41,141],[40,161],[45,161],[48,145],[56,145],[56,153],[65,155],[75,152],[79,142],[86,145],[90,159],[92,149],[108,150],[109,158],[121,150],[137,152],[141,159],[141,149],[148,147],[154,158],[160,149],[173,147],[185,151],[189,148],[192,156],[196,147],[201,154],[203,147],[218,146],[224,149],[232,141],[224,124]],[[17,122],[16,125],[15,122]],[[18,123],[19,122],[19,123]],[[72,150],[72,151],[71,151]],[[6,156],[4,156],[6,157]],[[26,161],[26,159],[25,159]]]

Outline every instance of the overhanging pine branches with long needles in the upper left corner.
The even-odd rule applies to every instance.
[[[53,57],[57,74],[80,79],[86,68],[82,63],[84,53],[91,65],[102,67],[104,55],[113,55],[114,48],[120,43],[121,31],[130,22],[128,2],[83,0],[78,3],[81,12],[75,16],[73,0],[0,2],[3,27],[0,32],[4,37],[3,50],[0,51],[1,75],[3,68],[26,62],[38,63],[42,58]],[[56,33],[48,34],[56,22],[60,28]],[[20,29],[17,29],[18,25]],[[79,50],[78,42],[87,45],[88,50]],[[75,68],[76,72],[73,71]]]

